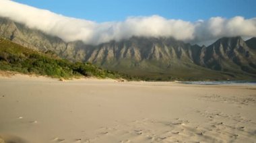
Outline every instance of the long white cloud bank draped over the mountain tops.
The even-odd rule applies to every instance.
[[[196,22],[165,19],[158,15],[128,17],[125,21],[96,23],[86,19],[65,17],[9,0],[0,0],[0,16],[24,23],[29,28],[58,36],[66,42],[82,40],[86,44],[100,44],[131,36],[172,36],[186,42],[203,42],[223,36],[256,36],[256,18],[212,17]]]

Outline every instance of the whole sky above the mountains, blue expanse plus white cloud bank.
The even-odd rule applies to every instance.
[[[0,17],[66,42],[146,36],[205,44],[225,36],[256,37],[255,5],[256,0],[0,0]]]

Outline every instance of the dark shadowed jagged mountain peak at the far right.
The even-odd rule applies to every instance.
[[[199,65],[214,70],[243,70],[256,74],[256,52],[241,37],[221,38],[201,50]]]

